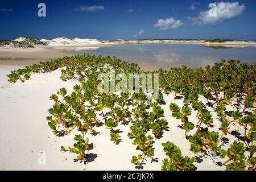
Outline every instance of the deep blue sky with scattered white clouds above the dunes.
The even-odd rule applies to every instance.
[[[46,17],[38,4],[46,4]],[[102,0],[1,1],[0,39],[247,39],[256,40],[256,1]]]

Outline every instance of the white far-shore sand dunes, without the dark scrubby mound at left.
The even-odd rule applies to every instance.
[[[13,40],[13,42],[20,42],[23,43],[28,38],[16,38]],[[104,40],[100,41],[97,39],[81,39],[81,38],[75,38],[75,39],[68,39],[68,38],[55,38],[55,39],[40,39],[36,40],[35,38],[29,38],[30,44],[32,44],[32,47],[81,47],[81,46],[91,46],[91,45],[97,45],[97,46],[104,46],[104,45],[115,45],[115,44],[203,44],[206,46],[244,46],[244,47],[251,47],[256,46],[256,42],[253,41],[245,41],[245,40],[223,40],[223,41],[213,41],[213,40],[192,40],[192,39],[184,39],[184,40],[176,40],[176,39],[166,39],[166,40],[154,40],[154,39],[146,39],[146,40]],[[33,43],[33,40],[36,43]],[[219,39],[217,39],[219,40]],[[0,51],[5,50],[24,50],[24,49],[31,49],[31,48],[15,48],[14,45],[3,45],[0,47]]]

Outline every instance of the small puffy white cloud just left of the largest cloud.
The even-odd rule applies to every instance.
[[[174,18],[167,18],[167,19],[159,19],[158,23],[155,24],[155,27],[159,27],[160,30],[167,30],[169,28],[179,28],[182,25],[181,20],[175,20]]]

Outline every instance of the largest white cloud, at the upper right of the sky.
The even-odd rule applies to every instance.
[[[197,17],[189,17],[193,24],[217,24],[222,23],[225,19],[231,19],[240,16],[246,7],[239,5],[239,2],[216,2],[216,16],[212,16],[214,7],[208,11],[201,11]]]

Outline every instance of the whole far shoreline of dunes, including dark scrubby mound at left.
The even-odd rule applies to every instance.
[[[229,39],[138,39],[138,40],[97,40],[97,39],[36,39],[32,37],[17,38],[14,40],[0,40],[0,49],[12,48],[35,48],[35,47],[70,47],[88,45],[113,45],[113,44],[204,44],[210,46],[256,46],[256,42],[249,40],[229,40]]]

